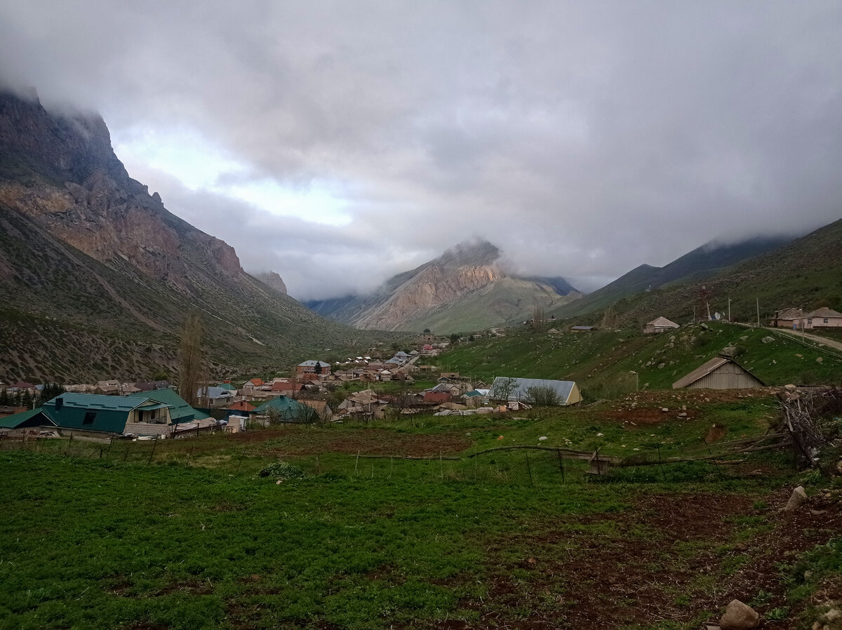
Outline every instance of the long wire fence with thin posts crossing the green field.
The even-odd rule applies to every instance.
[[[258,432],[259,433],[259,432]],[[25,439],[24,439],[25,438]],[[778,433],[662,453],[658,446],[620,459],[595,451],[552,446],[506,446],[468,455],[440,452],[424,456],[382,453],[284,450],[259,440],[230,435],[200,435],[178,440],[59,439],[7,435],[0,451],[32,451],[53,456],[104,460],[131,465],[186,466],[253,475],[287,462],[306,478],[350,478],[426,483],[496,483],[556,486],[566,483],[700,482],[758,472],[756,464],[791,462],[787,435]],[[761,452],[764,451],[764,452]],[[265,475],[273,477],[272,474]],[[276,482],[285,478],[275,475]]]

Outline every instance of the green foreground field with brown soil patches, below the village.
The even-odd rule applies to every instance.
[[[669,463],[706,454],[712,424],[728,441],[776,415],[773,398],[674,396],[0,442],[0,627],[696,628],[734,597],[801,627],[842,585],[839,485],[778,451]],[[482,453],[499,446],[667,463],[594,477],[556,451]],[[797,483],[823,515],[777,510]]]

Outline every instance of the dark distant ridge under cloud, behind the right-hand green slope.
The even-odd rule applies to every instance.
[[[585,296],[583,300],[557,309],[555,314],[557,317],[573,317],[604,309],[623,297],[652,291],[671,282],[702,280],[742,260],[780,248],[792,240],[793,237],[779,236],[754,237],[727,244],[711,241],[663,267],[641,264]]]

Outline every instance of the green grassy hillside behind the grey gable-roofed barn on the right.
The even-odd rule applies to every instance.
[[[591,333],[512,332],[459,344],[435,357],[448,370],[488,380],[523,376],[572,380],[589,398],[613,398],[634,391],[669,389],[681,376],[736,346],[738,362],[769,385],[839,383],[839,353],[805,346],[764,328],[729,323],[684,326],[675,334],[643,335],[626,329]],[[762,339],[775,341],[764,344]]]

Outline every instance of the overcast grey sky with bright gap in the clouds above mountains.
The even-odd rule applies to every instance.
[[[0,0],[0,83],[301,300],[472,238],[590,291],[842,216],[836,0]]]

